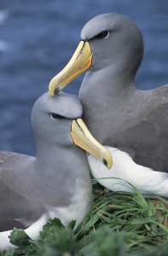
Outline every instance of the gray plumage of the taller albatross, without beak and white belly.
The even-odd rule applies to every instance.
[[[96,38],[103,31],[109,36]],[[79,92],[90,131],[137,164],[168,172],[168,86],[137,90],[134,81],[142,61],[142,33],[127,17],[106,14],[90,20],[81,38],[93,53]]]

